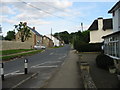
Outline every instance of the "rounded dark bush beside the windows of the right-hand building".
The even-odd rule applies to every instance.
[[[114,60],[105,54],[100,54],[96,58],[96,65],[108,70],[109,67],[114,66]]]

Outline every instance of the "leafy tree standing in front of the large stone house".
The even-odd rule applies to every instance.
[[[20,24],[15,25],[15,29],[19,32],[19,35],[21,37],[21,42],[24,42],[29,37],[31,37],[30,29],[27,26],[27,23],[20,22]]]

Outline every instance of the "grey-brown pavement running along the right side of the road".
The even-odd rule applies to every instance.
[[[59,71],[47,82],[44,88],[84,88],[75,50],[71,50]]]

